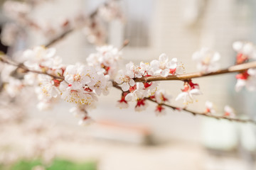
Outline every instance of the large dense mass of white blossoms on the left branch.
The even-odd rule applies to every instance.
[[[92,54],[97,57],[97,63],[92,62],[90,55],[88,64],[65,65],[54,48],[34,47],[22,53],[19,59],[23,61],[21,70],[15,66],[7,67],[6,64],[1,79],[6,82],[5,89],[11,97],[18,95],[24,87],[32,86],[41,110],[51,108],[60,99],[77,104],[79,109],[71,112],[80,115],[80,124],[86,124],[82,122],[91,121],[87,108],[95,106],[97,96],[109,94],[112,87],[110,75],[115,74],[120,55],[117,48],[112,46],[99,47],[97,50]],[[14,72],[23,78],[15,79],[12,75]]]

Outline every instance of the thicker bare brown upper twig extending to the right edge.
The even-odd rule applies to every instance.
[[[255,67],[256,67],[256,62],[247,62],[245,64],[238,64],[238,65],[228,67],[227,69],[220,69],[217,72],[211,72],[211,73],[194,72],[194,73],[181,74],[181,75],[168,76],[168,77],[151,76],[151,77],[135,78],[134,81],[136,82],[168,81],[168,80],[184,81],[184,80],[194,79],[199,77],[209,77],[213,75],[227,74],[232,72],[242,72],[247,69],[255,68]]]

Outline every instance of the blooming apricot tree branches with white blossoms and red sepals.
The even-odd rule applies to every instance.
[[[15,4],[17,8],[14,8]],[[219,67],[220,54],[207,48],[192,55],[198,68],[198,72],[194,73],[186,74],[183,64],[177,58],[170,58],[166,54],[161,54],[158,60],[149,63],[140,62],[136,65],[129,62],[125,69],[119,69],[122,48],[128,41],[120,48],[102,45],[106,34],[101,25],[101,20],[108,22],[112,18],[123,19],[116,1],[107,1],[90,16],[79,15],[67,19],[59,28],[45,28],[31,20],[28,17],[31,6],[24,6],[16,1],[6,1],[4,6],[16,20],[17,26],[37,29],[46,35],[52,33],[51,37],[54,37],[45,46],[23,51],[19,61],[11,60],[5,54],[1,55],[1,81],[4,84],[2,91],[5,90],[11,97],[29,86],[38,96],[39,109],[48,109],[60,100],[74,103],[75,106],[70,108],[70,112],[80,118],[80,125],[87,125],[92,122],[88,110],[95,108],[97,98],[109,94],[111,88],[116,88],[121,94],[117,101],[119,108],[128,108],[129,103],[135,102],[135,111],[144,111],[149,102],[152,102],[156,104],[157,115],[163,115],[167,112],[166,108],[172,108],[193,115],[256,124],[255,120],[237,118],[230,106],[225,106],[223,114],[217,115],[210,101],[206,101],[205,112],[202,113],[186,108],[196,101],[196,96],[203,94],[195,81],[198,77],[238,72],[236,91],[240,91],[243,86],[249,91],[256,89],[256,62],[251,62],[256,59],[256,48],[250,42],[234,42],[233,48],[238,52],[236,63],[227,69]],[[56,50],[52,46],[78,28],[85,28],[88,40],[98,45],[96,52],[87,57],[87,63],[63,64],[61,57],[55,55]],[[7,33],[8,30],[11,33],[16,32],[11,35],[17,35],[18,29],[14,31],[9,28],[2,35],[2,40],[11,45],[15,38]],[[182,100],[183,106],[171,105],[171,96],[164,89],[159,89],[160,81],[183,81],[181,93],[175,98],[176,101]]]

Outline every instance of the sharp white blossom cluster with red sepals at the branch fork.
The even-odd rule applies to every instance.
[[[167,77],[169,75],[178,75],[184,72],[183,64],[178,64],[176,58],[169,60],[166,54],[159,56],[159,60],[153,60],[150,63],[140,62],[139,66],[133,62],[126,65],[125,70],[119,70],[114,81],[122,88],[122,97],[118,101],[119,108],[127,108],[129,101],[136,101],[135,111],[144,111],[148,106],[147,99],[159,103],[156,106],[156,113],[164,113],[163,103],[170,100],[170,96],[165,91],[159,90],[159,82],[135,82],[134,79],[142,77],[160,76]]]

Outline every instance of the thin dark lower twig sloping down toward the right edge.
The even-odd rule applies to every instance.
[[[113,81],[113,86],[122,91],[122,88],[120,86],[118,86],[118,84],[114,81]],[[146,100],[154,102],[156,104],[159,104],[151,98],[146,98]],[[177,110],[177,111],[186,111],[187,113],[191,113],[193,115],[202,115],[202,116],[206,116],[208,118],[215,118],[215,119],[218,119],[218,120],[224,119],[224,120],[230,120],[230,121],[234,121],[234,122],[238,122],[238,123],[252,123],[252,124],[256,125],[256,121],[251,120],[251,119],[244,120],[244,119],[239,119],[239,118],[230,118],[230,117],[226,117],[224,115],[213,115],[213,114],[210,114],[210,113],[200,113],[200,112],[196,112],[196,111],[191,111],[187,108],[178,108],[176,106],[172,106],[172,105],[169,105],[169,104],[166,104],[166,103],[161,103],[161,105],[172,108],[173,110]]]

